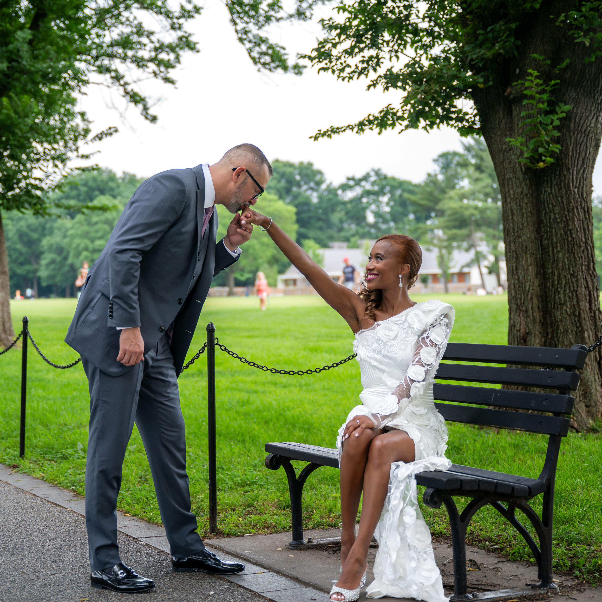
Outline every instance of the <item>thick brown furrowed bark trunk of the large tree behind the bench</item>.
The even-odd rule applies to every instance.
[[[554,25],[550,13],[569,10],[569,2],[542,3],[545,10],[521,38],[521,55],[498,72],[495,85],[473,92],[482,131],[500,184],[508,275],[508,343],[573,347],[598,338],[602,312],[595,270],[592,223],[592,173],[602,137],[602,60],[585,62],[588,47]],[[521,90],[513,82],[527,69],[544,72],[544,55],[556,66],[544,73],[559,79],[556,102],[571,105],[555,139],[556,162],[532,169],[506,138],[523,134]],[[545,67],[545,64],[544,66]],[[505,93],[504,93],[505,90]],[[589,354],[576,394],[572,424],[587,430],[602,418],[602,353]]]

